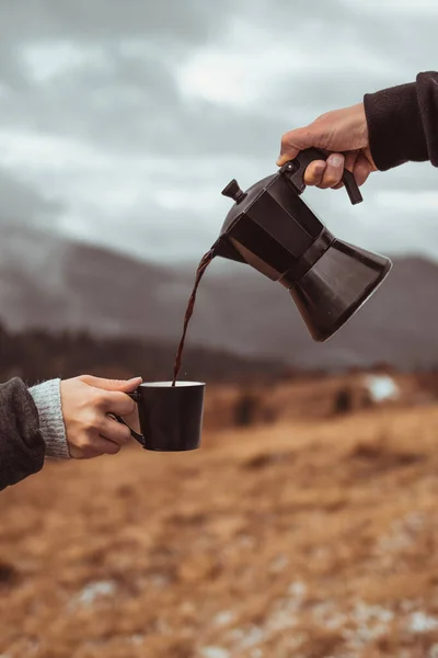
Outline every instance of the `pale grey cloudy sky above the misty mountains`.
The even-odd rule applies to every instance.
[[[0,217],[199,258],[281,133],[436,68],[436,0],[0,0]],[[374,174],[330,228],[438,259],[438,170]]]

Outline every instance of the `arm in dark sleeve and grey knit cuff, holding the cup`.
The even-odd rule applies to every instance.
[[[141,377],[83,375],[31,389],[19,378],[0,384],[0,490],[41,470],[46,455],[83,460],[118,453],[130,432],[108,413],[132,413],[126,393],[140,383]]]

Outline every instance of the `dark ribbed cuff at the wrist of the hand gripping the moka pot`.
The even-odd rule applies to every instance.
[[[380,171],[429,159],[415,82],[367,93],[364,105],[371,156]]]

